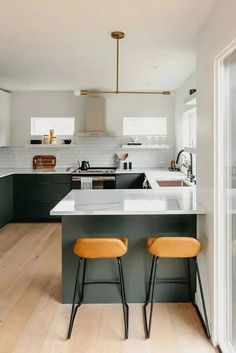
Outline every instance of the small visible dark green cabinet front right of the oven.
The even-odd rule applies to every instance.
[[[116,176],[116,189],[142,189],[144,174],[127,173]]]

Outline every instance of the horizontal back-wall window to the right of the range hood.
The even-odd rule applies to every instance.
[[[166,136],[167,118],[125,117],[123,118],[123,135]]]

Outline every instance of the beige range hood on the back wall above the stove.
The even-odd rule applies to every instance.
[[[79,136],[112,136],[106,128],[106,106],[103,97],[86,97],[85,131]]]

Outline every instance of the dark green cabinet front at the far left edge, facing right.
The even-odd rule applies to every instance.
[[[13,175],[0,178],[0,228],[13,218]]]

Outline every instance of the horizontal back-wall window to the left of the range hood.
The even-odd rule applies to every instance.
[[[31,135],[46,135],[53,129],[55,135],[74,135],[75,118],[37,117],[31,118]]]

